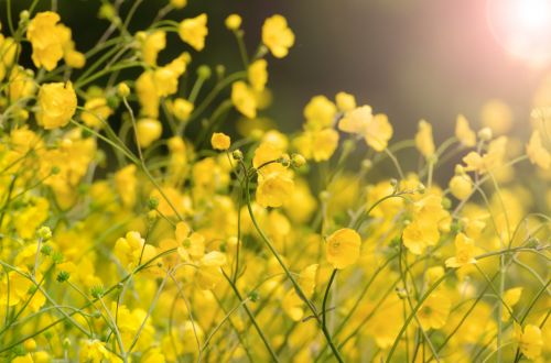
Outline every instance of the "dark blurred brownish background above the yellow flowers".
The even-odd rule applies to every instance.
[[[125,1],[122,12],[134,1]],[[507,1],[493,3],[499,9]],[[31,1],[12,3],[18,14]],[[56,3],[80,51],[94,45],[108,25],[96,16],[99,0]],[[144,1],[133,30],[148,26],[165,3]],[[50,0],[39,1],[39,8],[50,7]],[[496,98],[510,106],[514,128],[526,135],[534,95],[539,92],[540,103],[551,97],[542,88],[545,63],[534,64],[507,50],[488,24],[490,7],[486,0],[190,0],[186,8],[172,12],[170,18],[195,16],[205,7],[210,30],[207,47],[198,55],[192,54],[213,66],[216,59],[239,66],[235,40],[224,29],[229,13],[244,16],[251,53],[267,16],[281,13],[288,18],[296,35],[295,46],[284,59],[269,58],[269,86],[274,99],[268,114],[284,131],[301,128],[302,109],[312,96],[333,98],[344,90],[356,95],[359,105],[368,103],[376,112],[387,113],[396,139],[411,136],[419,119],[424,118],[433,123],[435,139],[442,141],[452,132],[460,112],[478,128],[483,105]],[[6,0],[0,0],[0,9],[6,33]],[[533,14],[541,12],[532,10]],[[175,34],[171,36],[177,40]],[[177,44],[162,53],[161,64],[183,51],[182,43]],[[549,51],[551,42],[531,46]]]

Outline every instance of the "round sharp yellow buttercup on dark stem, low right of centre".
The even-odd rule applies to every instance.
[[[334,268],[343,270],[359,258],[361,238],[349,228],[335,231],[325,243],[326,258]]]

